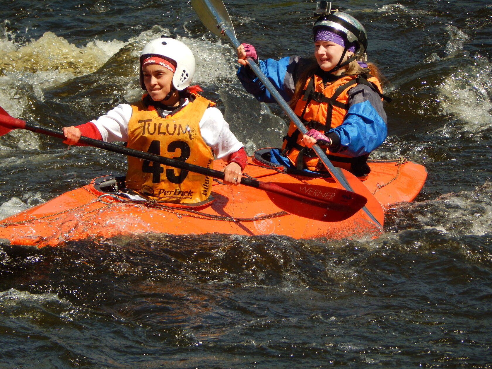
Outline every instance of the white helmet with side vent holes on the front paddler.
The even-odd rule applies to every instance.
[[[140,86],[147,90],[144,84],[142,61],[151,55],[166,57],[176,62],[176,72],[173,76],[173,86],[182,91],[191,83],[195,73],[195,57],[191,50],[181,41],[162,36],[149,42],[140,53]]]

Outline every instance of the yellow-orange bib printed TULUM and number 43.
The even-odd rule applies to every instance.
[[[132,104],[128,147],[211,168],[214,155],[202,138],[199,122],[215,103],[196,94],[181,110],[165,118],[153,106]],[[212,178],[128,156],[126,187],[152,200],[192,204],[206,200]]]

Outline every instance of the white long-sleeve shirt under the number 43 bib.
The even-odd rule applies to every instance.
[[[188,103],[185,100],[184,105]],[[119,104],[105,115],[91,121],[99,130],[102,140],[106,142],[128,141],[128,122],[132,115],[130,104]],[[164,114],[169,114],[165,111]],[[230,154],[237,152],[244,145],[238,141],[229,129],[222,113],[217,108],[205,110],[199,122],[202,138],[210,146],[218,159],[227,160]]]

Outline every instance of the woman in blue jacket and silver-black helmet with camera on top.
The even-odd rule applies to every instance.
[[[326,1],[325,1],[326,2]],[[364,62],[367,35],[352,16],[328,11],[313,26],[314,58],[285,57],[258,60],[252,45],[238,47],[238,71],[246,91],[258,100],[275,102],[270,92],[246,65],[258,63],[278,92],[305,123],[302,135],[293,122],[282,149],[273,149],[270,161],[288,171],[326,172],[311,149],[320,145],[335,166],[356,176],[369,173],[369,153],[386,139],[384,112],[377,68]]]

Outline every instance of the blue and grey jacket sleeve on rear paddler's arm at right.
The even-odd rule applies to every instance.
[[[355,94],[351,94],[350,107],[343,123],[329,131],[339,138],[339,142],[334,142],[330,150],[352,157],[370,154],[384,142],[388,134],[380,96],[367,86],[357,87]]]

